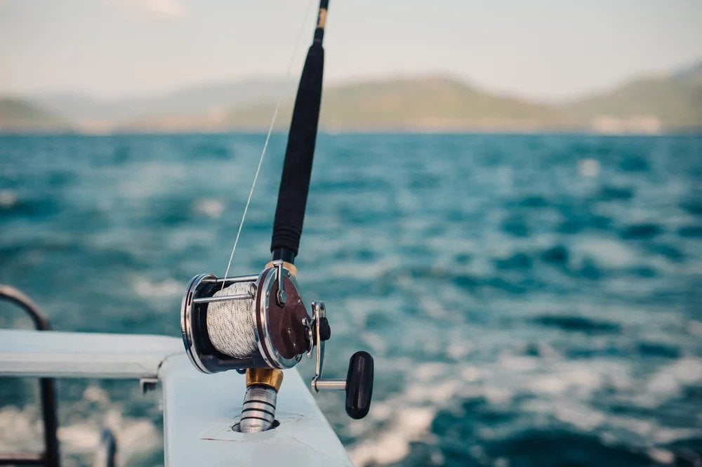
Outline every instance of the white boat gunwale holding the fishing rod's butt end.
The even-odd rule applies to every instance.
[[[284,373],[279,426],[238,433],[244,375],[200,373],[180,338],[0,329],[0,376],[160,381],[166,466],[352,466],[298,371]]]

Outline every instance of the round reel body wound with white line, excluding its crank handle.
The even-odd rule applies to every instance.
[[[312,319],[295,276],[275,261],[258,276],[192,278],[180,315],[190,362],[204,373],[294,367],[310,352]]]

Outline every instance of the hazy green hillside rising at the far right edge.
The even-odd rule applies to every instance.
[[[702,129],[702,63],[667,77],[636,79],[562,107],[595,129],[658,131]],[[599,128],[598,128],[599,127]]]

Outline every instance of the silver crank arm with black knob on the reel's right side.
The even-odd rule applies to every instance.
[[[322,379],[324,366],[324,341],[329,338],[329,323],[326,321],[326,308],[323,301],[312,302],[314,325],[314,343],[317,344],[317,358],[314,365],[312,389],[345,390],[346,413],[352,419],[362,419],[371,408],[373,396],[373,357],[368,352],[359,350],[351,355],[346,379]],[[326,329],[324,329],[326,327]],[[327,334],[326,338],[324,334]],[[307,353],[311,357],[310,353]]]

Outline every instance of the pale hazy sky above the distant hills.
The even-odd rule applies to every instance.
[[[116,99],[297,77],[316,8],[314,0],[0,0],[0,95]],[[700,25],[700,0],[331,0],[325,80],[447,74],[568,100],[699,62]]]

